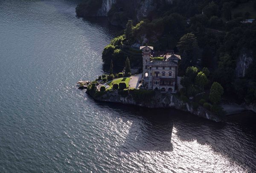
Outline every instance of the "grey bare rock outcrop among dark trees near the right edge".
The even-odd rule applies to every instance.
[[[236,62],[236,77],[244,77],[246,70],[253,62],[253,51],[248,49],[241,49],[241,53]]]

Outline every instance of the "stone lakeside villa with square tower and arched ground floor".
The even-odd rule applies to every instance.
[[[140,46],[140,50],[143,52],[142,83],[144,88],[175,93],[180,55],[175,55],[173,51],[154,52],[152,46]],[[152,61],[154,57],[160,57],[163,60]]]

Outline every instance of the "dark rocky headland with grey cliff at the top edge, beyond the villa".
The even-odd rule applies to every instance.
[[[108,17],[111,24],[124,27],[127,20],[135,22],[148,16],[158,5],[171,4],[173,0],[87,0],[79,4],[79,17]]]

